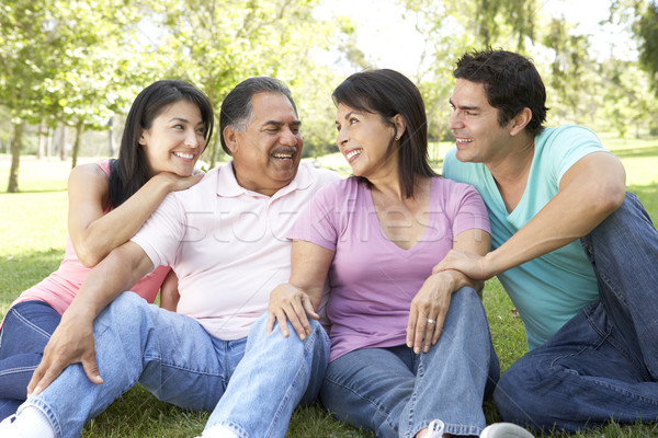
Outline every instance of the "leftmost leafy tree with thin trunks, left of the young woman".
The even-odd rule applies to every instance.
[[[138,9],[122,0],[4,2],[0,12],[0,96],[13,124],[8,192],[18,192],[23,127],[46,122],[76,128],[80,136],[129,102],[139,66],[131,49]],[[128,68],[126,68],[128,67]],[[133,67],[133,70],[136,70]]]

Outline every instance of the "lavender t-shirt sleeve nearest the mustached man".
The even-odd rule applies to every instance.
[[[303,240],[336,252],[338,215],[334,187],[336,184],[329,184],[315,194],[288,233],[290,240]]]

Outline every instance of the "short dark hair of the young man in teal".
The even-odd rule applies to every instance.
[[[525,128],[533,136],[544,129],[546,89],[530,59],[507,50],[474,50],[460,58],[454,77],[484,84],[487,101],[498,110],[500,126],[527,107],[532,118]]]

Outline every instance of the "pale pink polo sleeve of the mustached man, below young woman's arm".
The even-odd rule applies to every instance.
[[[185,220],[182,208],[172,193],[167,195],[131,241],[144,250],[156,268],[174,264],[179,245],[184,239],[184,231]]]

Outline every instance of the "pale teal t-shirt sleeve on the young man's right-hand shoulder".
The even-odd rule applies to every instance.
[[[548,141],[544,153],[548,153],[549,161],[554,163],[553,172],[557,184],[581,158],[592,152],[606,151],[599,137],[581,126],[565,126],[556,129]]]

